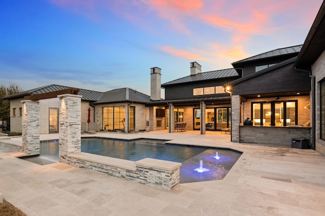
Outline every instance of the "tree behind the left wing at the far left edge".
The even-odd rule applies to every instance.
[[[0,98],[22,92],[22,89],[15,83],[11,83],[9,87],[0,84]],[[10,117],[10,101],[0,100],[0,119],[8,119]]]

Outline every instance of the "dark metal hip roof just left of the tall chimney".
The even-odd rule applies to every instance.
[[[94,102],[94,104],[106,104],[116,102],[148,103],[150,102],[150,96],[129,88],[114,89],[103,93],[101,98]]]

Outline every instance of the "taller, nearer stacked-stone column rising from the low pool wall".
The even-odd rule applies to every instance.
[[[81,152],[81,97],[58,95],[59,114],[59,162],[68,162],[67,155]]]

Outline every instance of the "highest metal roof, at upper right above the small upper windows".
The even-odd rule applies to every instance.
[[[232,63],[232,65],[242,62],[248,62],[248,61],[254,61],[259,59],[265,59],[265,58],[271,58],[275,56],[282,56],[282,55],[288,55],[288,54],[294,54],[299,53],[302,48],[302,45],[293,46],[293,47],[286,47],[286,48],[280,48],[276,50],[272,50],[266,53],[258,54],[256,56],[249,57],[247,59],[243,59],[237,62]]]

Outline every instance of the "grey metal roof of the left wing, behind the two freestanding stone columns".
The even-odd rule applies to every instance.
[[[9,96],[3,97],[1,99],[11,100],[11,99],[23,98],[27,95],[38,95],[38,94],[43,94],[43,93],[49,93],[49,92],[55,92],[55,91],[59,91],[59,90],[70,89],[70,88],[72,88],[72,87],[50,84],[50,85],[46,85],[44,87],[40,87],[37,89],[32,89],[32,90],[20,92],[20,93],[14,94],[14,95],[9,95]],[[90,90],[85,90],[85,89],[80,89],[80,92],[78,93],[78,95],[82,96],[81,100],[83,100],[83,101],[96,101],[102,96],[102,94],[103,94],[102,92],[90,91]]]

